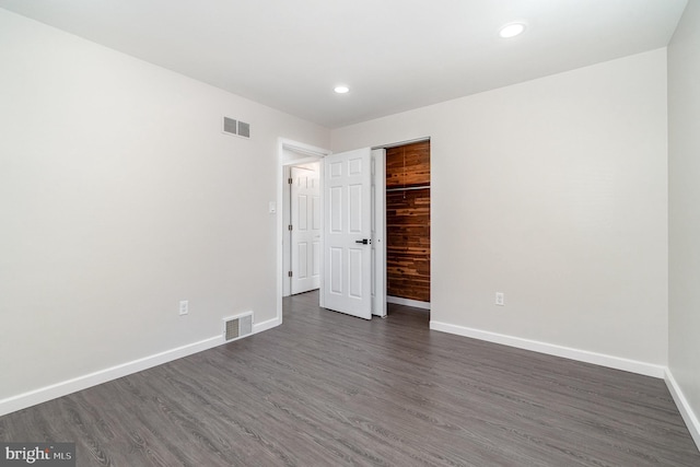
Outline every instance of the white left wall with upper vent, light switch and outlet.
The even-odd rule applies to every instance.
[[[0,401],[276,319],[278,138],[327,129],[4,10],[0,63]]]

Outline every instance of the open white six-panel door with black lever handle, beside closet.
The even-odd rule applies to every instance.
[[[324,160],[324,285],[326,308],[372,318],[371,149]]]

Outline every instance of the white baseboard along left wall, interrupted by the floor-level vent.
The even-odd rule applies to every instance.
[[[253,334],[271,329],[278,325],[278,318],[254,324]],[[210,337],[209,339],[200,340],[198,342],[188,343],[186,346],[133,360],[131,362],[100,370],[83,376],[78,376],[72,380],[62,381],[50,386],[40,387],[18,396],[8,397],[7,399],[0,400],[0,417],[18,410],[26,409],[27,407],[36,406],[37,404],[56,399],[58,397],[67,396],[78,390],[88,389],[89,387],[96,386],[98,384],[138,373],[153,366],[162,365],[163,363],[172,362],[173,360],[209,350],[217,346],[221,346],[222,343],[225,343],[223,335]]]

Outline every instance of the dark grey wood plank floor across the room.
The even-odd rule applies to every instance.
[[[661,380],[284,301],[272,330],[0,418],[79,466],[700,466]]]

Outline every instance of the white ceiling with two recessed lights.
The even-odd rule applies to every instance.
[[[0,0],[328,128],[668,44],[687,0]],[[498,30],[523,21],[525,34]],[[338,83],[350,93],[338,95]],[[240,116],[244,118],[245,116]]]

